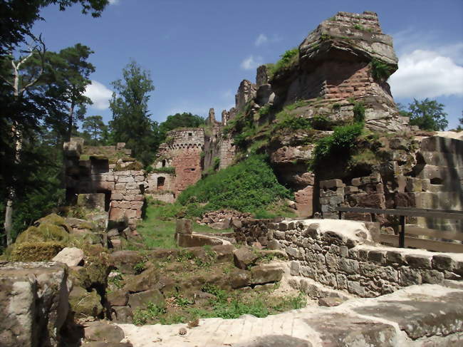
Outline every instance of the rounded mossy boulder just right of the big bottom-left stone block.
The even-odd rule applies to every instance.
[[[103,313],[101,298],[95,289],[88,292],[81,286],[74,286],[69,294],[69,304],[76,313],[76,318],[98,317]]]

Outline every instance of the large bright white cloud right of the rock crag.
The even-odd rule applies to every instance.
[[[454,53],[450,46],[435,51],[416,49],[399,58],[399,69],[390,77],[396,98],[436,98],[463,95],[463,67],[442,53]]]

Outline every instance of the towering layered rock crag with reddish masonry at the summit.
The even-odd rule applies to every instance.
[[[407,125],[386,83],[397,70],[397,57],[377,14],[338,12],[304,39],[298,54],[296,64],[270,81],[276,103],[323,98],[337,104],[331,113],[353,119],[353,104],[347,100],[353,98],[365,105],[365,126],[370,130],[399,131]]]

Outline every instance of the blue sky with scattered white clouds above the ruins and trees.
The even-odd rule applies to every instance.
[[[394,38],[399,70],[390,79],[396,102],[435,98],[446,105],[449,128],[463,110],[463,1],[209,1],[110,0],[98,19],[80,7],[48,6],[37,22],[48,50],[83,43],[95,51],[96,68],[88,115],[108,109],[110,82],[135,59],[151,71],[152,119],[177,112],[216,115],[234,105],[244,78],[298,46],[321,21],[338,11],[375,11],[383,32]]]

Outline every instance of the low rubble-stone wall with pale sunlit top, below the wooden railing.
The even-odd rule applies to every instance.
[[[463,254],[380,247],[375,244],[378,234],[362,222],[306,219],[254,223],[247,229],[239,230],[247,235],[246,242],[255,235],[255,241],[266,238],[267,244],[286,251],[293,276],[357,296],[380,296],[405,286],[442,284],[444,279],[463,276]]]

